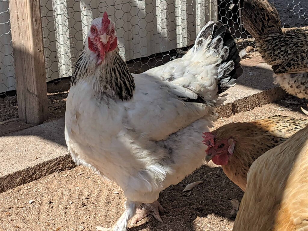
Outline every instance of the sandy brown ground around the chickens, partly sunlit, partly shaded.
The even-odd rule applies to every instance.
[[[302,105],[292,97],[284,101],[218,118],[215,128],[236,121],[252,121],[270,115],[308,118]],[[182,195],[186,184],[203,181],[189,197]],[[164,224],[148,217],[132,231],[221,231],[232,230],[231,199],[241,200],[243,193],[210,162],[175,186],[160,194],[166,209]],[[77,167],[54,173],[0,194],[0,230],[95,230],[96,225],[110,226],[123,212],[125,198],[114,183],[103,180],[91,170]],[[32,202],[32,203],[29,203]]]

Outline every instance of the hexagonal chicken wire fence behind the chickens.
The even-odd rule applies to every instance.
[[[107,11],[115,21],[120,55],[140,73],[185,54],[209,20],[227,26],[240,49],[253,46],[241,24],[239,0],[40,0],[48,101],[64,106],[91,21]],[[307,26],[299,0],[275,0],[282,26]],[[0,121],[18,116],[9,1],[0,0]]]

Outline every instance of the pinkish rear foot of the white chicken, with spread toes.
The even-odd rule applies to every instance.
[[[159,214],[160,212],[163,213],[164,210],[165,209],[160,205],[158,201],[155,201],[152,204],[142,204],[139,206],[139,208],[136,209],[136,215],[132,218],[131,225],[135,225],[137,222],[143,220],[148,215],[153,215],[157,221],[164,223]]]

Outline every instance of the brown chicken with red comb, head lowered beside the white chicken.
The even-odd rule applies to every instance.
[[[273,115],[249,123],[226,124],[204,133],[208,145],[206,161],[221,165],[225,174],[243,191],[247,172],[266,151],[282,144],[295,132],[306,127],[308,120]]]

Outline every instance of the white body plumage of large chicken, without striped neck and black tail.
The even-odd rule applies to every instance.
[[[133,75],[136,88],[127,101],[98,99],[93,86],[99,73],[72,85],[65,139],[75,162],[115,181],[128,200],[142,203],[156,201],[161,190],[200,167],[206,149],[202,132],[211,126],[213,106],[223,102],[217,95],[218,68],[234,67],[232,60],[218,67],[229,51],[221,40],[224,53],[217,54],[210,42],[211,36],[181,59]],[[202,96],[206,103],[179,96]]]

